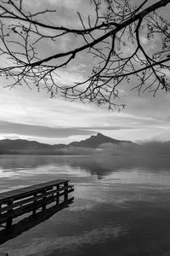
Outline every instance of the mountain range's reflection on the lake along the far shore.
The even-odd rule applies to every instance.
[[[102,179],[113,172],[140,169],[142,172],[161,172],[170,169],[168,157],[126,157],[126,156],[42,156],[42,155],[6,155],[0,156],[0,176],[10,177],[24,173],[31,175],[38,173],[71,172],[76,175],[83,171]],[[84,176],[86,176],[84,174]]]

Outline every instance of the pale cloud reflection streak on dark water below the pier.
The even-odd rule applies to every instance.
[[[26,247],[21,247],[20,249],[14,249],[14,256],[21,255],[45,255],[48,253],[54,253],[57,255],[57,250],[75,250],[77,247],[82,247],[83,245],[95,245],[105,239],[111,239],[113,237],[118,237],[122,235],[121,226],[109,227],[105,226],[102,229],[94,229],[77,236],[59,236],[59,237],[45,237],[41,241],[33,241],[31,245]]]

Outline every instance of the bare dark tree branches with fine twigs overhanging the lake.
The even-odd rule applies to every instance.
[[[169,91],[170,21],[160,15],[160,9],[170,0],[143,0],[137,5],[131,0],[91,3],[94,15],[88,16],[87,22],[77,12],[79,23],[71,28],[43,22],[44,15],[53,15],[54,10],[32,13],[26,0],[1,0],[0,74],[9,80],[6,86],[35,84],[37,90],[47,88],[51,96],[60,92],[69,100],[106,103],[109,108],[124,108],[116,104],[116,98],[120,85],[130,81],[131,89],[139,93],[149,91],[155,96],[159,89]],[[58,42],[65,37],[74,38],[76,43],[62,49]],[[40,49],[50,41],[56,48],[46,55]],[[150,47],[151,42],[155,48]],[[88,78],[63,84],[59,72],[82,53],[91,60]]]

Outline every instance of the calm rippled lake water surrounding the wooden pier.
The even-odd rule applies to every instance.
[[[0,191],[56,178],[75,185],[69,208],[0,246],[9,256],[170,255],[170,160],[0,156]]]

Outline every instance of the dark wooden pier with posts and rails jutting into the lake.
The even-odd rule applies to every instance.
[[[13,219],[26,212],[36,214],[38,209],[46,210],[46,207],[54,203],[57,206],[70,203],[69,194],[74,191],[69,180],[54,180],[40,183],[23,189],[15,189],[0,194],[0,225],[11,227]]]

